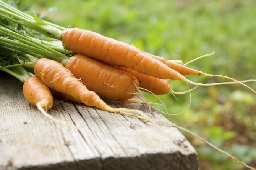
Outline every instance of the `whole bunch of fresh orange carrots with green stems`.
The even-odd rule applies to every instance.
[[[203,73],[89,30],[65,29],[19,11],[3,1],[0,1],[0,19],[0,49],[8,51],[1,54],[0,63],[3,64],[0,70],[23,81],[24,97],[55,121],[58,120],[46,113],[53,106],[51,92],[74,102],[148,121],[154,120],[144,117],[136,109],[112,108],[100,97],[136,102],[130,99],[138,94],[139,88],[156,95],[184,93],[172,91],[165,79],[185,81],[196,86],[220,84],[195,83],[186,75],[226,78],[256,93],[236,79]],[[42,38],[42,35],[46,37]],[[63,46],[47,40],[61,41]],[[31,77],[24,68],[29,71],[32,68],[31,72],[36,77]]]

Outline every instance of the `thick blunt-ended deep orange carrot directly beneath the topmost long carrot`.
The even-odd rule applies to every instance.
[[[65,67],[76,78],[81,79],[89,90],[101,97],[127,100],[135,95],[134,92],[138,92],[135,86],[139,87],[139,83],[133,75],[87,56],[81,54],[72,56]]]

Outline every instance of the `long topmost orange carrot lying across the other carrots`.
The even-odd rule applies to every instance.
[[[203,84],[190,81],[178,71],[173,70],[168,65],[158,60],[160,59],[159,57],[156,56],[153,58],[152,55],[149,55],[134,46],[115,40],[113,38],[105,37],[99,33],[95,33],[89,30],[83,30],[79,28],[65,29],[62,32],[61,40],[63,45],[71,51],[84,54],[86,56],[93,57],[110,64],[125,66],[148,76],[160,79],[181,80],[198,86],[215,85],[214,83]],[[177,63],[171,63],[174,66],[177,66],[177,70],[182,67]],[[201,71],[198,72],[193,69],[189,70],[193,72],[193,74],[198,73],[198,75],[230,79],[247,87],[256,94],[256,91],[254,91],[251,87],[241,83],[240,81],[237,81],[236,79],[222,75],[210,75]],[[187,74],[186,71],[184,71],[183,74]]]

